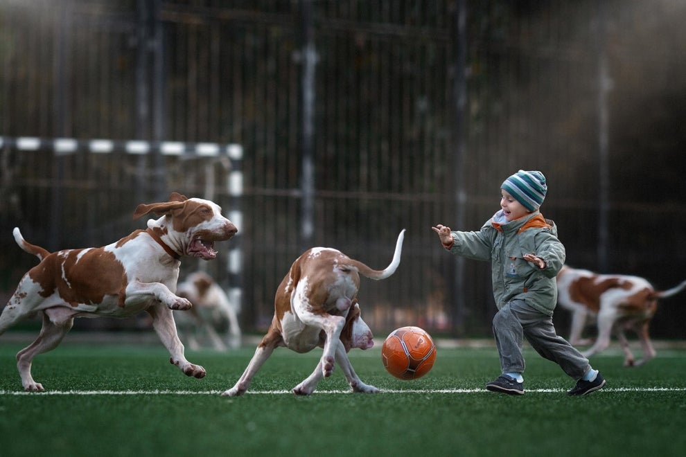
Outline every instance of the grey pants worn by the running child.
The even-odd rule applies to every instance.
[[[581,352],[556,334],[552,317],[523,300],[513,300],[495,314],[493,334],[502,373],[524,373],[524,337],[541,357],[554,361],[573,379],[581,379],[591,368]]]

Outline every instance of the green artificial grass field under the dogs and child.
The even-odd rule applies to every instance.
[[[28,340],[26,343],[28,344]],[[321,354],[274,352],[243,397],[220,397],[254,348],[190,352],[204,379],[168,363],[161,345],[67,341],[35,359],[46,393],[24,393],[15,353],[0,338],[2,456],[677,456],[686,449],[686,350],[658,350],[647,366],[619,352],[592,359],[606,388],[568,397],[574,384],[527,350],[521,397],[490,393],[494,348],[441,348],[412,382],[387,375],[380,344],[353,350],[376,395],[352,394],[340,370],[310,397],[288,389]]]

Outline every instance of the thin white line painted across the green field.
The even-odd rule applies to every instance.
[[[488,392],[482,388],[447,388],[447,389],[403,389],[382,390],[380,393],[484,393]],[[526,393],[566,393],[561,388],[538,388],[529,389]],[[614,392],[686,392],[686,387],[618,387],[604,388],[601,393]],[[24,392],[24,391],[0,391],[3,395],[220,395],[222,391],[45,391],[45,392]],[[341,394],[351,393],[351,391],[315,391],[314,395],[322,394]],[[247,391],[246,395],[292,395],[290,391]]]

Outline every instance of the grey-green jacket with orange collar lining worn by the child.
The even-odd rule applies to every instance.
[[[450,252],[475,260],[491,260],[493,298],[500,310],[513,299],[552,316],[557,303],[556,276],[565,263],[565,247],[557,239],[557,227],[535,211],[507,224],[502,210],[480,231],[453,231]],[[538,269],[522,256],[533,253],[545,260]]]

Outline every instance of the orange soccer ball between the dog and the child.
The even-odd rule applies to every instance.
[[[429,373],[436,360],[436,345],[419,327],[401,327],[388,335],[381,348],[381,361],[398,379],[417,379]]]

